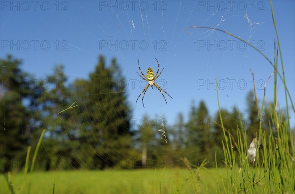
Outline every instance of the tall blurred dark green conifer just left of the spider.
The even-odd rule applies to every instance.
[[[114,167],[128,156],[130,109],[121,83],[123,77],[116,59],[106,67],[104,57],[99,56],[89,80],[76,80],[73,84],[72,99],[80,103],[73,122],[73,157],[83,168]]]

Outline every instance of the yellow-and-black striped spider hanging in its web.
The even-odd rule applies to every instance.
[[[158,60],[157,60],[157,58],[156,58],[156,61],[158,62]],[[148,68],[148,70],[147,70],[147,76],[146,75],[144,75],[144,73],[141,71],[141,69],[140,69],[140,66],[139,66],[139,60],[138,60],[138,69],[139,69],[139,71],[140,71],[140,73],[143,75],[143,76],[141,76],[138,72],[136,72],[142,79],[144,79],[144,80],[146,80],[147,82],[148,82],[148,85],[145,87],[145,89],[143,90],[143,92],[137,97],[137,100],[138,100],[138,98],[142,95],[142,94],[144,94],[143,95],[143,98],[142,98],[142,101],[143,101],[143,106],[144,106],[144,108],[145,108],[145,105],[144,105],[144,97],[145,97],[145,94],[146,94],[146,92],[147,92],[147,90],[148,90],[148,86],[150,86],[151,88],[153,88],[153,86],[155,86],[157,89],[158,89],[158,91],[160,91],[160,93],[162,94],[162,96],[164,97],[164,99],[165,99],[165,101],[166,101],[166,98],[165,98],[165,96],[164,96],[164,94],[162,93],[162,91],[163,92],[165,92],[165,90],[163,90],[158,84],[156,84],[156,82],[155,82],[155,80],[160,76],[160,74],[163,72],[163,70],[164,70],[164,68],[162,69],[162,71],[160,72],[160,74],[158,75],[158,73],[159,73],[159,69],[160,69],[160,63],[158,62],[158,71],[157,71],[157,73],[156,73],[156,75],[154,76],[154,74],[153,74],[153,71],[152,71],[152,69],[151,68]],[[169,97],[171,97],[167,92],[165,92]],[[172,97],[171,97],[172,98]],[[173,98],[172,98],[173,99]],[[136,100],[136,102],[137,102],[137,100]],[[136,103],[135,102],[135,103]],[[167,101],[166,101],[166,104],[167,104]]]

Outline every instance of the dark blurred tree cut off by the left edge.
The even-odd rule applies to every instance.
[[[26,157],[28,127],[22,100],[28,95],[21,61],[0,60],[0,171],[19,168]]]

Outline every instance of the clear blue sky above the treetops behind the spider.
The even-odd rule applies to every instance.
[[[218,110],[215,75],[220,80],[222,108],[236,105],[245,112],[246,94],[257,95],[273,68],[252,48],[218,31],[188,28],[202,25],[223,29],[248,40],[273,60],[275,31],[269,1],[0,1],[0,57],[12,54],[23,60],[23,70],[44,78],[56,64],[65,66],[70,81],[87,79],[98,55],[107,63],[116,57],[126,78],[127,100],[132,118],[139,123],[147,113],[151,119],[164,117],[175,123],[177,113],[188,119],[192,101],[205,100],[209,114]],[[295,97],[295,2],[273,1],[275,20],[282,48],[285,76]],[[144,73],[163,73],[158,84],[173,99],[148,89],[145,107],[141,98],[146,82],[137,75],[140,60]],[[280,66],[280,65],[279,65]],[[281,66],[280,66],[281,67]],[[280,68],[281,70],[281,68]],[[266,102],[273,98],[273,77],[266,87]],[[279,81],[279,103],[284,103],[284,87]],[[77,102],[79,103],[79,102]],[[289,103],[290,104],[290,103]],[[291,109],[291,106],[290,106]],[[291,113],[292,125],[295,124]]]

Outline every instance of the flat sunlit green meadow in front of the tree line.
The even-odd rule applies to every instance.
[[[11,183],[14,191],[21,194],[53,193],[54,183],[56,194],[222,193],[221,174],[226,174],[226,170],[218,171],[218,176],[216,169],[203,169],[200,176],[192,176],[188,169],[33,172],[11,174]],[[10,193],[3,174],[0,175],[0,193]]]

